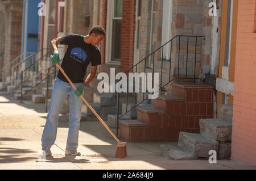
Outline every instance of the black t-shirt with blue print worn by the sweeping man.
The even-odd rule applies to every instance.
[[[100,50],[97,46],[85,43],[84,36],[68,34],[61,37],[60,44],[68,45],[61,68],[73,83],[83,83],[86,68],[90,62],[92,66],[101,65]],[[61,71],[59,71],[57,77],[61,81],[68,82]]]

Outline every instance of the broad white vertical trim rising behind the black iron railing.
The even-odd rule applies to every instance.
[[[172,0],[163,0],[163,27],[162,27],[162,45],[172,38]],[[170,59],[171,45],[167,44],[164,49],[163,58]]]

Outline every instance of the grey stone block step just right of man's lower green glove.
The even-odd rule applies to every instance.
[[[93,102],[100,104],[100,106],[115,106],[117,103],[113,93],[94,93]]]

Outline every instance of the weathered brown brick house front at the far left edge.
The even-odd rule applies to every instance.
[[[21,53],[22,43],[22,1],[0,1],[0,77],[5,82],[10,77],[10,62]],[[0,87],[2,89],[2,85]]]

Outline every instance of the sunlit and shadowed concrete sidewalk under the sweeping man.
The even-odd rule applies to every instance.
[[[65,157],[68,118],[60,116],[57,140],[52,147],[53,157],[43,159],[41,136],[47,113],[44,104],[32,104],[0,95],[0,169],[102,169],[102,170],[156,170],[156,169],[255,169],[237,161],[172,161],[160,157],[159,143],[128,143],[125,159],[114,157],[114,139],[99,121],[82,122],[79,157]],[[168,143],[164,143],[168,144]],[[176,143],[170,143],[176,144]]]

